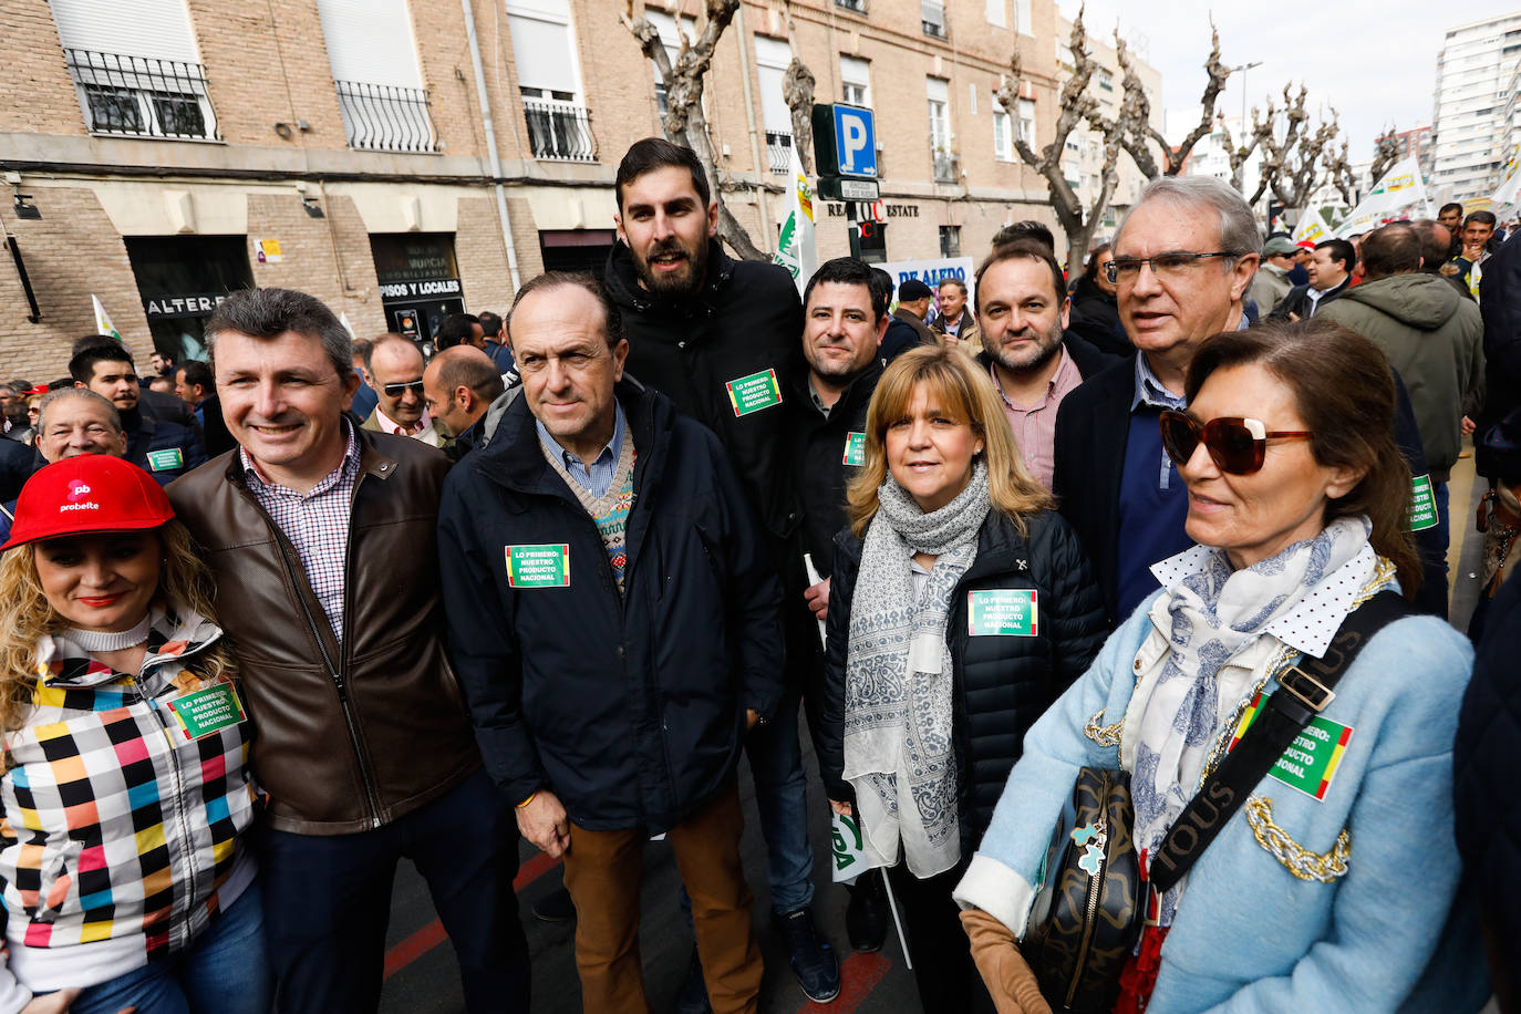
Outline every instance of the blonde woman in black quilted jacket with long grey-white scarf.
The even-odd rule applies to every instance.
[[[888,868],[925,1009],[978,1009],[951,888],[1025,730],[1098,651],[1103,602],[987,371],[957,351],[887,368],[847,497],[820,771],[835,812],[858,818],[867,863]]]

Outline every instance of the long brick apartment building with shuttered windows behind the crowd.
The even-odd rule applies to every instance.
[[[645,6],[672,50],[697,0]],[[613,176],[665,105],[614,0],[0,0],[0,363],[62,372],[94,295],[146,360],[227,292],[292,286],[360,336],[503,312],[548,268],[599,269]],[[876,112],[875,258],[978,255],[1054,223],[1013,131],[1049,140],[1053,0],[745,0],[706,111],[724,198],[762,249],[788,207],[795,50],[818,102]],[[1021,47],[1016,109],[995,91]],[[820,257],[849,249],[817,205]]]

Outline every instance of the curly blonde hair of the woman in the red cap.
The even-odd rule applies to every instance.
[[[170,520],[152,531],[164,555],[155,602],[172,610],[192,610],[214,622],[211,572],[196,552],[189,529]],[[59,634],[68,620],[47,602],[37,573],[33,544],[17,546],[0,556],[0,731],[26,724],[37,693],[37,642]],[[231,678],[236,666],[219,640],[189,663],[204,680]]]

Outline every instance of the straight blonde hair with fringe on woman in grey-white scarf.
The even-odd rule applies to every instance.
[[[993,380],[981,365],[943,345],[922,345],[894,359],[882,372],[865,410],[865,467],[846,491],[850,531],[865,537],[876,517],[878,490],[887,477],[887,427],[908,415],[919,385],[941,412],[966,421],[983,438],[989,499],[993,509],[1027,534],[1025,518],[1049,508],[1051,494],[1025,468]]]

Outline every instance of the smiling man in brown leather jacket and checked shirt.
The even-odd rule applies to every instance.
[[[207,325],[239,448],[169,491],[236,639],[269,794],[260,876],[284,1011],[374,1011],[400,857],[427,880],[470,1011],[528,1009],[513,807],[481,766],[441,640],[449,461],[344,418],[348,331],[289,289]]]

